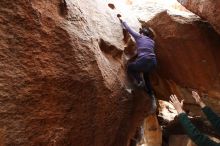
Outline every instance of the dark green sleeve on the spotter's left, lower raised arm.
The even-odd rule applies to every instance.
[[[198,146],[219,146],[220,144],[212,141],[208,136],[202,134],[189,120],[185,113],[179,114],[179,121],[186,131],[187,135]]]

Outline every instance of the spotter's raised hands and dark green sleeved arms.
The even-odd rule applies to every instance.
[[[192,97],[196,100],[197,104],[202,108],[203,113],[206,115],[207,119],[215,127],[216,131],[220,133],[220,117],[218,117],[211,108],[207,107],[205,103],[201,100],[199,94],[192,91]],[[192,139],[192,141],[198,146],[220,146],[220,143],[212,141],[208,136],[202,134],[188,119],[186,113],[182,109],[183,100],[179,102],[176,95],[170,96],[171,103],[178,113],[178,118],[185,129],[187,135]]]

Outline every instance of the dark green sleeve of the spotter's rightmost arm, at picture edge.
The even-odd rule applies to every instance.
[[[202,108],[202,111],[206,115],[207,119],[211,122],[211,124],[215,127],[216,131],[220,133],[220,117],[207,106]]]

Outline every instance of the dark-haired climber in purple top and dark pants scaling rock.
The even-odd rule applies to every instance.
[[[157,60],[154,53],[154,32],[150,28],[140,28],[139,33],[132,30],[126,22],[121,19],[121,15],[118,14],[120,22],[124,28],[135,39],[137,47],[137,58],[135,61],[128,64],[128,75],[134,79],[134,83],[141,88],[146,88],[146,91],[150,97],[154,97],[153,88],[149,80],[149,73],[156,67]],[[141,76],[143,73],[143,77]]]

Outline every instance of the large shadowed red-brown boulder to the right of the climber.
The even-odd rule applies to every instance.
[[[154,87],[166,100],[176,93],[191,105],[190,91],[197,89],[219,110],[220,37],[208,23],[190,17],[162,12],[148,22],[157,33],[159,76]]]

